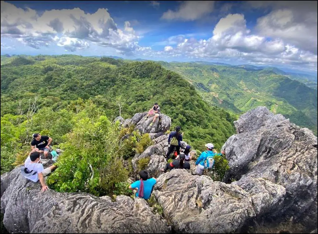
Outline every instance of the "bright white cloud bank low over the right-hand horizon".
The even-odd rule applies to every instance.
[[[286,16],[285,22],[288,21],[289,18]],[[243,14],[229,14],[221,18],[208,39],[197,40],[177,35],[170,37],[166,42],[168,45],[157,56],[242,60],[253,64],[289,65],[317,70],[317,54],[310,48],[306,50],[284,37],[252,33],[246,26]],[[317,35],[313,42],[317,43]]]

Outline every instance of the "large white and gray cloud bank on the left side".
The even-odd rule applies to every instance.
[[[138,45],[139,36],[129,21],[123,26],[119,29],[105,8],[93,14],[74,8],[39,15],[30,8],[1,1],[1,37],[17,38],[36,49],[54,43],[68,51],[88,48],[90,43],[113,47],[123,54],[149,49]]]

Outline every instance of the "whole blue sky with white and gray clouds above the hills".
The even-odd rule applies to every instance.
[[[1,54],[317,72],[317,1],[1,1]]]

